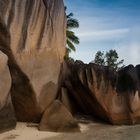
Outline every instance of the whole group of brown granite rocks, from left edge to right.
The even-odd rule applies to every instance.
[[[79,132],[76,114],[112,124],[140,121],[140,66],[64,62],[63,0],[0,1],[0,132],[17,121]]]

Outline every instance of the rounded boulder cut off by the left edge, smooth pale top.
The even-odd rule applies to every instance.
[[[0,51],[0,132],[16,126],[16,118],[10,95],[11,76],[7,61],[8,57]]]

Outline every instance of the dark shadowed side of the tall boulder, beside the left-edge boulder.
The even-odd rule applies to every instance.
[[[10,93],[19,121],[37,121],[40,118],[36,96],[28,77],[22,72],[10,48],[10,33],[0,18],[0,50],[7,54],[12,87]],[[11,79],[10,79],[11,80]],[[6,88],[6,85],[3,87]]]

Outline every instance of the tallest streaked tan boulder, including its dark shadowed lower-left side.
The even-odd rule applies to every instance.
[[[2,0],[0,19],[8,31],[0,26],[1,34],[8,36],[1,39],[0,50],[9,57],[16,117],[38,122],[45,110],[40,104],[42,91],[50,81],[58,84],[65,53],[63,1]]]

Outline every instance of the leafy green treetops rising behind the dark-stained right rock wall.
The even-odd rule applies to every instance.
[[[94,58],[94,63],[102,66],[109,66],[115,70],[119,70],[124,67],[124,60],[118,61],[119,56],[116,50],[109,50],[104,54],[104,52],[98,51]]]

